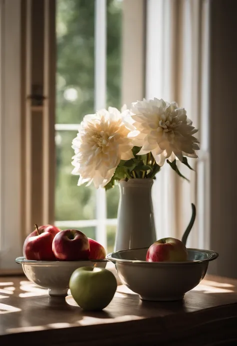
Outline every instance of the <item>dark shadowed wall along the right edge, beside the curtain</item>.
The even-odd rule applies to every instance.
[[[236,139],[237,1],[210,3],[210,248],[209,272],[237,278]]]

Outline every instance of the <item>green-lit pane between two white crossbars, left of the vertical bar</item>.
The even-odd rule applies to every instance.
[[[76,131],[57,131],[55,220],[88,220],[95,217],[95,194],[92,186],[77,186],[78,176],[72,175],[71,141]]]

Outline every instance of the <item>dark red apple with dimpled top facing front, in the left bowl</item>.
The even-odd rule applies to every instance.
[[[60,261],[88,260],[89,241],[78,230],[61,231],[53,239],[52,251]]]

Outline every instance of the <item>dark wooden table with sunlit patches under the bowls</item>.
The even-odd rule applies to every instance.
[[[237,280],[206,278],[183,301],[142,302],[124,286],[102,312],[51,298],[25,277],[0,278],[0,345],[237,346]]]

